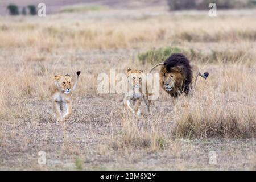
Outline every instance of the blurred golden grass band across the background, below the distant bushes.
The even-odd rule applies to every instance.
[[[179,41],[254,41],[256,28],[253,22],[250,18],[205,18],[199,22],[191,19],[172,19],[171,22],[169,19],[125,20],[122,23],[118,20],[97,23],[73,20],[64,24],[54,18],[47,22],[7,22],[4,19],[0,23],[0,47],[109,49],[152,47]]]

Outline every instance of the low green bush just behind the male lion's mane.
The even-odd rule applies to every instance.
[[[142,64],[151,63],[160,63],[164,60],[166,60],[172,53],[181,53],[182,50],[177,47],[163,47],[163,48],[152,48],[149,51],[139,53],[138,59],[142,62]]]

